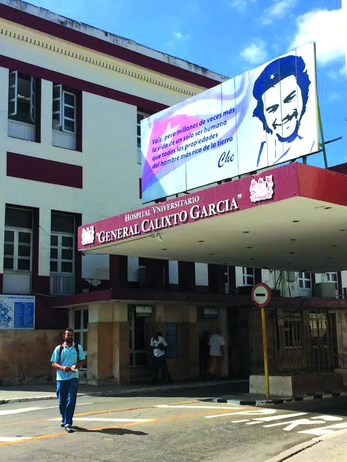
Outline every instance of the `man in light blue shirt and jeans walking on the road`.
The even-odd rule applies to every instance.
[[[85,354],[82,346],[73,343],[73,329],[65,329],[64,343],[58,345],[52,354],[52,366],[57,369],[57,396],[61,414],[60,425],[72,433],[72,417],[75,412],[78,390],[78,368],[83,366]]]

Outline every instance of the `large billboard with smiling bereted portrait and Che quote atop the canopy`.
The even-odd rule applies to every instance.
[[[318,150],[314,43],[141,121],[142,200]]]

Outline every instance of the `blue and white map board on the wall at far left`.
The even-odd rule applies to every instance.
[[[33,329],[34,295],[0,295],[0,329]]]

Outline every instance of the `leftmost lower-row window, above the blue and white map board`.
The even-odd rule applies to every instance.
[[[4,271],[31,271],[32,241],[32,211],[6,207]]]

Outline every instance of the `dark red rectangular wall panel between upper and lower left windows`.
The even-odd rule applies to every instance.
[[[82,167],[7,152],[7,176],[82,189]]]

